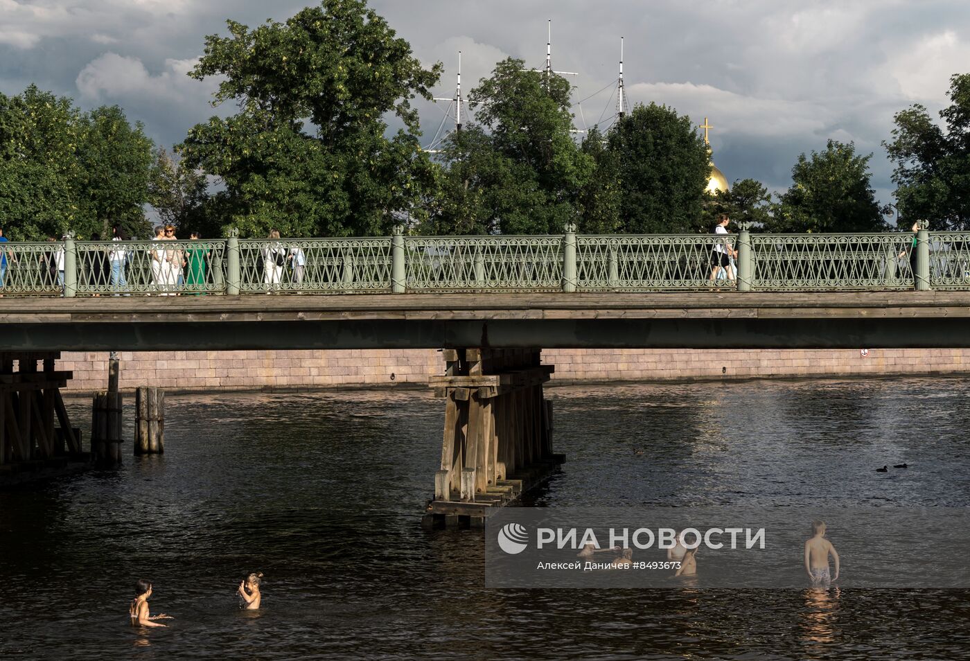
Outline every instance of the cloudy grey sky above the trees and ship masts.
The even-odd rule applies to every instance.
[[[781,190],[798,154],[825,140],[874,152],[873,185],[891,202],[881,142],[893,113],[934,114],[949,78],[970,69],[966,0],[372,0],[415,54],[441,61],[436,95],[454,89],[463,51],[467,92],[501,58],[545,60],[577,72],[574,99],[617,77],[620,37],[631,102],[665,103],[695,123],[710,118],[715,162],[728,181]],[[283,20],[307,2],[275,0],[0,0],[0,91],[29,83],[82,108],[118,104],[161,145],[213,113],[212,84],[185,76],[225,19]],[[576,125],[612,115],[613,88],[573,109]],[[426,140],[441,109],[422,104]],[[580,114],[581,108],[581,114]]]

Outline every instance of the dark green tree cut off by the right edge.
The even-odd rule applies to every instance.
[[[900,224],[929,221],[930,229],[970,228],[970,74],[950,79],[951,105],[940,112],[946,130],[916,104],[893,117],[892,181]]]

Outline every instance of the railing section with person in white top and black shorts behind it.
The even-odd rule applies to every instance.
[[[736,237],[612,235],[576,237],[580,291],[733,287]],[[720,267],[724,262],[727,266]]]

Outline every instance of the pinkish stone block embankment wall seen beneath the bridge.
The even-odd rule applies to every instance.
[[[122,390],[286,390],[410,384],[441,374],[433,349],[122,351]],[[970,349],[546,349],[553,381],[723,380],[970,373]],[[107,352],[65,352],[68,389],[108,383]]]

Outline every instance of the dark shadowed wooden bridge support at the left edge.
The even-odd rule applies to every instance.
[[[73,375],[54,369],[58,358],[56,351],[0,351],[0,483],[86,459],[60,393]]]

